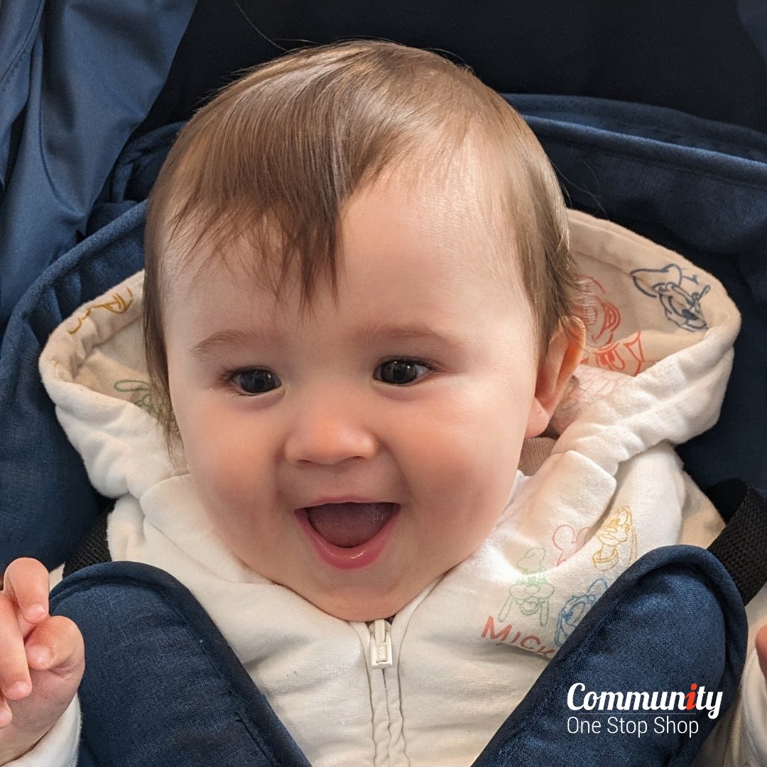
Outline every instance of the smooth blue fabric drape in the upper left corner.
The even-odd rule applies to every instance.
[[[77,242],[194,0],[0,4],[0,326]]]

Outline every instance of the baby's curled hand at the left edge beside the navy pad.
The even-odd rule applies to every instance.
[[[0,591],[0,765],[29,751],[64,713],[85,667],[83,637],[48,614],[48,571],[8,565]]]

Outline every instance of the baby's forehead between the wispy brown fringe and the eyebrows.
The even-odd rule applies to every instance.
[[[214,260],[222,249],[197,252],[200,265],[191,268],[187,262],[171,288],[167,329],[183,338],[210,335],[213,328],[229,346],[235,345],[232,338],[245,338],[248,345],[255,337],[268,341],[252,345],[279,349],[287,348],[288,340],[301,344],[301,334],[309,332],[314,333],[313,353],[332,344],[354,343],[362,350],[384,341],[415,344],[425,338],[432,341],[429,348],[436,348],[436,339],[442,349],[469,348],[493,322],[513,319],[515,331],[528,323],[532,327],[522,288],[489,278],[466,257],[474,236],[450,247],[449,239],[439,232],[432,236],[429,222],[422,220],[423,240],[408,242],[410,232],[387,230],[387,212],[379,216],[375,208],[367,210],[376,202],[374,196],[360,196],[351,206],[343,227],[351,234],[341,237],[335,254],[337,281],[328,273],[316,275],[308,293],[295,272],[280,283],[278,274],[259,266],[246,240],[229,249],[225,265]],[[475,252],[485,258],[486,251]],[[326,339],[319,346],[318,337]]]

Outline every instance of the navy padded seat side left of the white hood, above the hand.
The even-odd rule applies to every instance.
[[[56,420],[38,357],[81,304],[142,267],[143,214],[135,206],[55,262],[8,323],[0,350],[0,571],[19,556],[60,564],[104,505]]]

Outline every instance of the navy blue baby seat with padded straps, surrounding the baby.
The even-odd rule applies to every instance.
[[[104,10],[103,0],[6,0],[0,5],[0,56],[11,52],[3,61],[6,66],[0,66],[0,319],[7,318],[0,351],[0,570],[21,555],[40,558],[51,568],[69,563],[71,574],[54,591],[52,604],[73,617],[86,637],[81,765],[202,765],[214,760],[305,765],[295,742],[189,592],[161,571],[103,561],[109,502],[87,481],[39,380],[37,360],[48,334],[85,301],[141,268],[143,200],[178,130],[173,120],[186,117],[203,92],[218,84],[210,64],[197,67],[209,76],[207,81],[194,67],[204,58],[200,30],[207,33],[209,45],[216,41],[215,28],[232,38],[249,35],[269,55],[279,52],[264,35],[258,36],[262,24],[255,3],[234,3],[225,11],[221,5],[199,2],[195,8],[181,0],[106,5],[113,15],[98,12]],[[324,41],[381,35],[462,50],[458,42],[439,35],[413,39],[420,34],[419,25],[430,26],[424,21],[426,5],[422,15],[413,15],[412,5],[413,26],[407,34],[385,26],[363,24],[360,29],[360,19],[347,18],[343,28],[299,35],[291,31],[295,25],[300,28],[298,21],[279,21],[276,8],[262,8],[262,14],[285,37]],[[518,17],[548,30],[551,19],[567,13],[572,4],[552,3],[548,15],[525,10],[527,5],[518,4]],[[604,18],[597,21],[597,5],[603,4],[594,3],[591,16],[584,11],[591,6],[581,6],[584,29],[592,23],[604,25]],[[644,61],[640,46],[633,69],[623,72],[623,83],[636,81],[637,92],[621,86],[615,74],[620,67],[605,67],[603,77],[611,72],[614,79],[587,91],[581,86],[588,81],[589,67],[593,69],[588,58],[593,51],[584,48],[583,61],[570,60],[570,81],[563,81],[556,67],[543,67],[549,79],[547,84],[540,79],[544,74],[536,75],[534,90],[540,93],[521,92],[509,100],[551,156],[572,206],[682,252],[716,275],[738,304],[743,330],[721,419],[679,448],[693,479],[732,518],[711,551],[653,551],[619,578],[511,713],[477,767],[565,760],[597,767],[686,765],[712,725],[707,717],[699,718],[692,737],[680,733],[671,739],[637,740],[625,733],[601,739],[595,748],[593,739],[567,731],[572,712],[564,691],[579,680],[588,680],[594,690],[690,690],[696,683],[723,691],[723,706],[736,692],[746,650],[743,604],[767,578],[767,513],[759,491],[767,488],[767,347],[762,341],[767,336],[767,91],[746,92],[767,84],[767,25],[763,15],[752,13],[752,2],[739,2],[737,14],[730,16],[721,4],[704,5],[722,14],[719,31],[725,28],[725,17],[739,29],[732,39],[745,46],[742,54],[724,58],[729,67],[738,61],[755,73],[741,78],[739,89],[725,82],[696,97],[694,78],[685,80],[679,61],[676,74],[682,84],[674,90],[663,81],[663,67]],[[395,18],[391,5],[387,8]],[[700,12],[700,3],[696,8]],[[507,12],[495,9],[496,14]],[[222,31],[235,26],[224,23],[228,13],[240,19],[236,31]],[[456,15],[463,17],[458,6],[441,6],[440,13],[453,14],[446,27],[459,41]],[[384,11],[380,14],[383,24]],[[649,10],[647,18],[634,22],[643,33],[655,28]],[[117,38],[110,25],[119,26]],[[182,37],[185,28],[187,36]],[[195,30],[197,36],[190,38]],[[527,40],[524,31],[515,34]],[[84,48],[84,37],[93,41],[85,46],[94,57],[87,66],[76,53]],[[687,45],[690,38],[695,35],[688,35]],[[643,39],[646,43],[647,36]],[[565,42],[553,46],[551,35],[546,38],[557,56],[572,51]],[[732,46],[732,51],[739,50],[735,42]],[[236,45],[232,48],[247,55]],[[520,59],[535,61],[540,68],[545,59],[535,58],[538,51],[522,48]],[[619,48],[602,48],[601,53],[629,55]],[[229,48],[222,50],[222,58],[229,59],[213,67],[219,78],[258,61],[258,56],[238,61]],[[509,45],[503,50],[509,51]],[[597,46],[594,55],[599,52]],[[688,53],[696,61],[706,58],[700,50]],[[463,56],[473,61],[470,51]],[[662,58],[663,48],[657,56]],[[94,61],[100,63],[97,69]],[[57,80],[47,69],[51,66],[67,77],[59,72]],[[728,71],[725,67],[709,75],[726,78]],[[185,72],[187,79],[201,77],[204,85],[197,83],[187,94],[179,85]],[[499,90],[525,91],[497,76],[492,84]],[[640,84],[648,77],[657,94],[642,91]],[[68,81],[78,84],[78,96],[62,113],[61,99],[74,93],[64,87]],[[717,100],[716,94],[722,98]],[[49,122],[51,114],[58,120]],[[62,151],[61,139],[70,133],[72,149]],[[722,484],[730,477],[746,484]],[[84,545],[78,547],[81,541]],[[662,637],[647,630],[659,621],[668,627]],[[120,628],[125,625],[144,628],[126,634]],[[174,653],[156,652],[159,637]],[[687,648],[683,657],[674,650],[680,644]],[[116,658],[123,663],[115,665]],[[141,659],[140,669],[126,662],[134,658]],[[162,689],[147,685],[147,679],[163,679]],[[110,696],[108,690],[119,690],[119,695]]]

